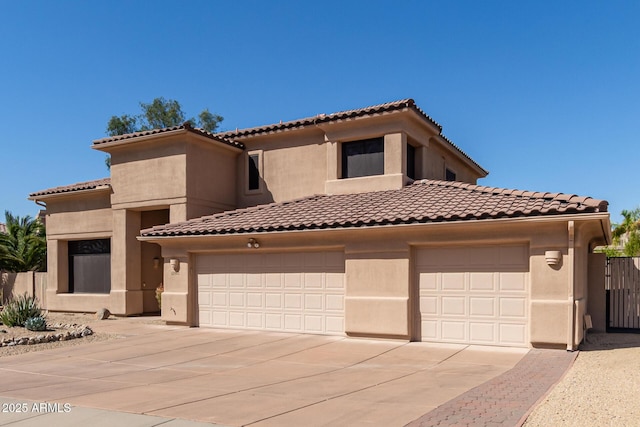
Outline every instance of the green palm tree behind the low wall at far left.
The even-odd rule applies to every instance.
[[[0,270],[45,271],[47,239],[44,225],[30,216],[20,218],[5,211],[7,231],[0,232]]]

